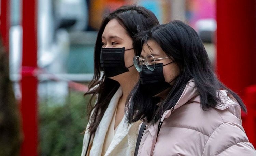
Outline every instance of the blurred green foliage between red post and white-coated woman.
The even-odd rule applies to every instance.
[[[81,92],[70,92],[66,104],[40,104],[40,155],[81,155],[88,100]]]

